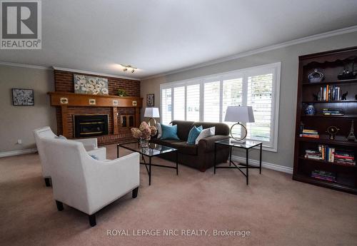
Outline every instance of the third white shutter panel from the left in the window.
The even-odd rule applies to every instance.
[[[200,120],[200,84],[187,86],[186,121]]]

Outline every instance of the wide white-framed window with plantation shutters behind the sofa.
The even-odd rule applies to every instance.
[[[161,84],[161,121],[223,122],[231,127],[233,122],[224,122],[227,107],[252,106],[255,122],[243,123],[247,139],[262,141],[265,150],[276,151],[280,68],[281,63],[272,63]],[[233,128],[236,137],[241,131]]]

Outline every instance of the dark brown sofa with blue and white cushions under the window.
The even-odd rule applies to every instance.
[[[178,163],[188,165],[191,168],[196,168],[201,172],[213,167],[214,165],[214,142],[229,138],[228,125],[224,123],[208,123],[208,122],[193,122],[193,121],[173,121],[173,125],[177,125],[177,135],[180,140],[161,140],[156,137],[151,138],[151,143],[166,145],[178,149]],[[216,135],[203,138],[198,142],[198,145],[187,144],[188,133],[193,125],[197,127],[202,125],[203,129],[216,127]],[[223,145],[217,145],[216,160],[217,163],[223,163],[228,160],[229,149]],[[175,153],[166,153],[161,155],[162,158],[175,161]]]

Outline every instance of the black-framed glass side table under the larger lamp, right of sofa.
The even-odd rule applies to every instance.
[[[226,145],[229,147],[229,166],[216,166],[216,149],[217,145]],[[253,166],[249,165],[249,150],[251,148],[257,147],[260,145],[260,158],[259,158],[259,166]],[[246,150],[246,164],[243,163],[234,163],[232,161],[232,148],[243,148]],[[244,176],[246,176],[246,185],[248,185],[249,181],[249,169],[253,168],[259,168],[259,174],[261,174],[261,152],[263,148],[263,143],[262,142],[257,142],[253,140],[246,140],[245,143],[238,143],[236,140],[233,140],[233,138],[228,138],[224,140],[219,140],[214,143],[214,174],[216,174],[216,169],[218,168],[236,168],[238,169],[241,173],[243,173]],[[233,165],[233,166],[232,166]],[[246,169],[246,173],[242,171],[242,169]]]

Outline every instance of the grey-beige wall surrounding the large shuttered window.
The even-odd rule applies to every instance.
[[[308,41],[306,43],[299,43],[293,46],[278,48],[273,51],[266,51],[252,56],[237,58],[235,60],[216,63],[210,66],[195,68],[180,73],[173,73],[168,76],[147,79],[141,82],[141,97],[146,98],[146,94],[154,93],[155,106],[159,107],[160,83],[181,81],[188,78],[196,78],[199,76],[206,76],[214,73],[222,73],[281,61],[278,152],[273,153],[264,151],[263,161],[266,163],[273,163],[292,168],[296,120],[298,56],[321,51],[331,51],[333,49],[345,48],[349,46],[357,46],[357,32],[319,39],[316,41]],[[239,152],[234,154],[241,155]],[[257,160],[257,154],[257,151],[255,151],[252,158]]]

